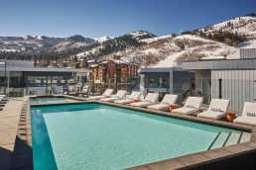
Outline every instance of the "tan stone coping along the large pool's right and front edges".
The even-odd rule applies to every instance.
[[[71,97],[67,95],[63,95],[64,97],[77,99],[77,97]],[[30,97],[29,97],[30,98]],[[176,158],[166,159],[162,161],[152,162],[149,164],[144,164],[140,166],[130,167],[129,170],[152,170],[152,169],[188,169],[188,168],[195,168],[200,165],[208,164],[217,162],[226,158],[235,157],[238,155],[243,155],[249,152],[256,152],[256,127],[255,126],[246,126],[246,125],[238,125],[233,123],[225,123],[221,121],[215,121],[215,120],[209,120],[209,119],[201,119],[197,117],[187,116],[187,115],[178,115],[178,114],[168,114],[168,112],[163,111],[155,111],[155,110],[149,110],[144,108],[137,108],[137,107],[130,107],[126,105],[119,105],[114,103],[107,103],[107,102],[100,102],[100,101],[92,101],[83,99],[82,102],[76,103],[76,104],[82,104],[82,103],[98,103],[102,105],[108,105],[108,106],[114,106],[119,107],[123,109],[129,109],[134,111],[143,111],[149,114],[159,115],[159,116],[165,116],[170,118],[176,118],[176,119],[182,119],[187,121],[193,121],[197,123],[204,123],[207,125],[213,125],[217,127],[231,127],[233,129],[241,129],[251,132],[251,138],[250,141],[241,142],[229,146],[224,146],[220,148],[210,149],[206,151],[201,151],[197,153],[192,153],[184,156],[179,156]],[[53,104],[51,106],[55,106],[58,104]],[[60,104],[59,104],[60,105]],[[62,104],[66,105],[66,104]],[[68,103],[67,105],[70,105]],[[49,106],[49,105],[48,105]],[[29,109],[27,110],[27,113],[30,113],[30,105]],[[31,123],[31,122],[30,122]],[[31,128],[30,128],[31,130]],[[32,146],[33,147],[33,146]],[[212,154],[215,156],[212,156]],[[210,156],[211,155],[211,156]]]

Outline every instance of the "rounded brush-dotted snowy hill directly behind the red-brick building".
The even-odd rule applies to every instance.
[[[112,53],[104,56],[111,58],[113,54],[125,58],[136,58],[143,67],[171,67],[182,60],[207,59],[224,56],[228,57],[238,48],[225,43],[209,41],[198,36],[184,35],[148,42],[132,50]]]

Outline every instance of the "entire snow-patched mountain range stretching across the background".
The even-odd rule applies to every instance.
[[[96,39],[75,35],[69,38],[45,36],[0,37],[0,58],[26,53],[41,57],[108,59],[114,55],[136,58],[142,66],[166,67],[182,60],[232,57],[237,43],[256,40],[256,17],[245,16],[207,26],[204,29],[157,37],[146,31],[117,38]],[[248,44],[244,43],[245,46]],[[17,58],[16,57],[16,58]]]

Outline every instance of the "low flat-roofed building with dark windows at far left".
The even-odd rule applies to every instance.
[[[34,67],[33,61],[0,61],[0,93],[9,96],[51,94],[51,86],[61,91],[62,86],[87,82],[88,69]]]

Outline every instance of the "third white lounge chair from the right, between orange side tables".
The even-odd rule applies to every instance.
[[[172,113],[192,115],[200,109],[202,98],[200,97],[189,97],[182,108],[172,110]]]

